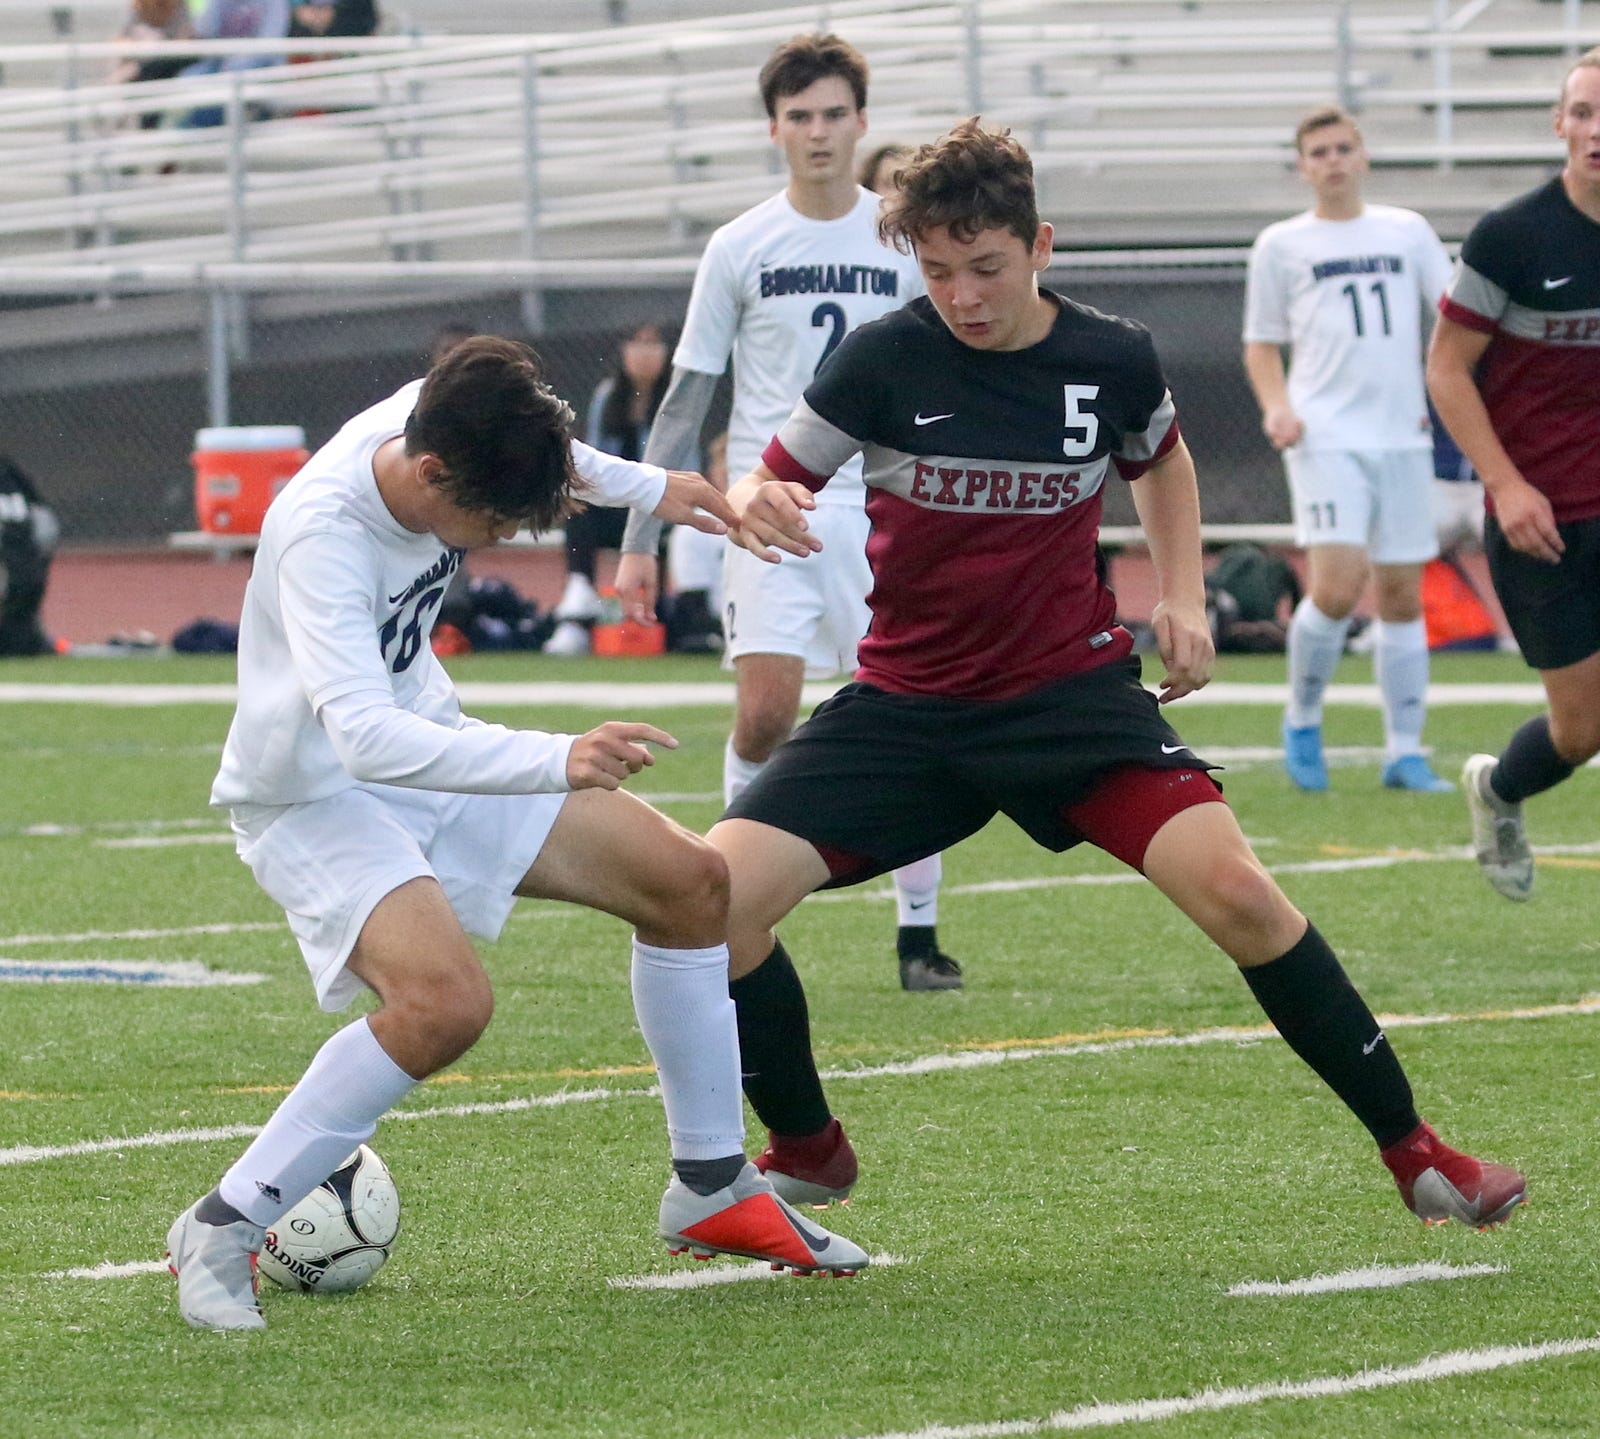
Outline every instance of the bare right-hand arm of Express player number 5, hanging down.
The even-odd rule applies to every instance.
[[[1158,599],[1150,626],[1166,666],[1160,695],[1166,704],[1210,682],[1216,658],[1205,613],[1200,487],[1182,439],[1133,480],[1131,490],[1155,565]]]

